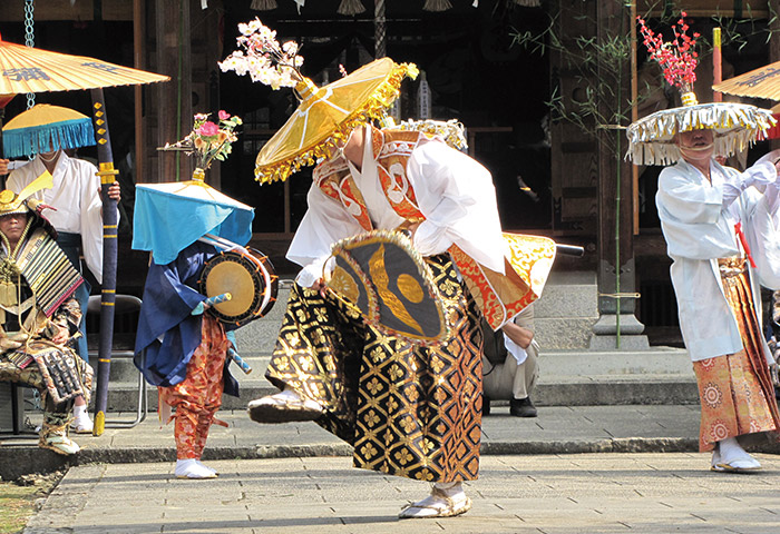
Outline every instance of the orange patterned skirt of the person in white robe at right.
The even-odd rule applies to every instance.
[[[693,363],[701,398],[699,451],[727,437],[780,428],[774,386],[761,349],[744,258],[719,259],[723,293],[742,337],[742,350]],[[777,435],[774,436],[777,437]]]

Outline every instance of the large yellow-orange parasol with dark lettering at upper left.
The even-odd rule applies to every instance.
[[[71,91],[169,80],[99,59],[51,52],[0,37],[0,95]]]

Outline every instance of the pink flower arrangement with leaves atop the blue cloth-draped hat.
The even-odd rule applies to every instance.
[[[216,159],[224,161],[237,139],[235,128],[242,125],[241,117],[220,110],[218,122],[208,120],[209,113],[196,113],[193,131],[175,144],[165,144],[163,150],[183,150],[187,156],[197,155],[197,168],[205,170]]]

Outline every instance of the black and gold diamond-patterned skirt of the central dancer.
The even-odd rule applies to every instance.
[[[480,316],[450,257],[426,261],[454,317],[447,343],[420,348],[383,336],[331,294],[295,285],[265,376],[324,406],[318,424],[354,447],[355,467],[471,481],[481,438]]]

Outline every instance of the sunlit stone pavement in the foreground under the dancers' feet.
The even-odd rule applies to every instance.
[[[488,455],[466,515],[399,521],[427,484],[354,469],[345,457],[224,459],[212,481],[170,463],[71,468],[26,534],[777,533],[780,458],[711,473],[695,453]]]

